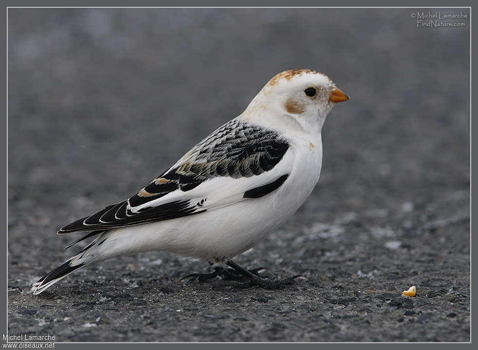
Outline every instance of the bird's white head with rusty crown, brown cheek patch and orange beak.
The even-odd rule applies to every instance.
[[[349,96],[325,74],[315,70],[286,70],[269,80],[245,114],[264,125],[280,119],[288,127],[295,124],[306,132],[320,132],[332,107],[347,100]]]

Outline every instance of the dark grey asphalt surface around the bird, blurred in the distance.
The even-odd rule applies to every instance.
[[[10,9],[9,333],[469,341],[469,20],[417,28],[410,13]],[[352,99],[324,126],[310,198],[236,261],[306,279],[273,291],[176,285],[207,263],[152,252],[32,296],[80,248],[62,249],[79,234],[60,226],[142,188],[294,68],[326,73]],[[411,285],[417,295],[402,297]]]

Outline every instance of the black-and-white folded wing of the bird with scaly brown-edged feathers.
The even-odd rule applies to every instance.
[[[234,119],[129,199],[61,227],[58,233],[151,223],[258,198],[287,179],[293,158],[288,141],[275,131]]]

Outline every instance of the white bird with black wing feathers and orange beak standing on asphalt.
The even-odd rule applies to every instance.
[[[209,262],[244,285],[278,288],[232,259],[283,225],[317,184],[321,130],[336,103],[349,100],[325,74],[309,69],[276,74],[246,109],[191,148],[126,200],[61,227],[57,234],[96,236],[33,284],[34,295],[93,262],[166,251]],[[202,274],[193,274],[196,276]]]

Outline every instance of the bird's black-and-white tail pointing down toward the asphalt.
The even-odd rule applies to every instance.
[[[96,240],[87,245],[78,254],[74,255],[66,262],[63,262],[60,266],[47,273],[41,279],[37,280],[32,286],[33,295],[44,292],[48,287],[67,277],[72,272],[96,261],[96,257],[93,254],[88,254],[89,249],[93,248],[95,243]]]

